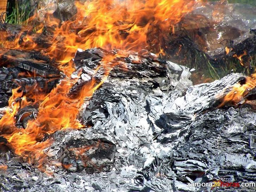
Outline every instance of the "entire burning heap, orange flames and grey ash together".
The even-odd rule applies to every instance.
[[[241,166],[253,177],[250,127],[256,122],[244,104],[255,107],[255,74],[235,73],[192,86],[187,67],[160,57],[167,34],[175,32],[196,3],[76,1],[76,15],[62,23],[52,13],[45,14],[43,23],[37,15],[30,18],[27,23],[33,27],[1,22],[0,143],[6,151],[1,158],[6,172],[15,169],[1,177],[6,183],[2,188],[12,190],[21,181],[21,188],[30,190],[49,190],[53,184],[50,190],[102,191],[109,186],[106,191],[189,191],[184,183],[225,180],[225,174]],[[226,121],[224,109],[217,109],[224,106],[242,106],[227,110],[226,118],[233,122]],[[244,127],[235,119],[240,110],[246,116],[240,119]],[[212,121],[220,122],[214,127]],[[238,135],[230,133],[231,125]],[[208,136],[206,128],[223,135]],[[212,158],[218,156],[213,141],[226,147],[231,140],[237,141],[230,144],[234,149],[244,145],[246,150],[228,148],[224,160]],[[241,162],[233,161],[233,154]],[[23,162],[18,171],[15,155],[33,166]],[[220,167],[223,162],[229,166]],[[45,184],[41,172],[52,175]],[[246,179],[242,175],[239,181]]]

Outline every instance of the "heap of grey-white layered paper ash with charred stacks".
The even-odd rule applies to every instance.
[[[80,78],[69,94],[93,78],[101,82],[106,69],[92,71],[117,52],[78,51],[73,76]],[[191,70],[151,53],[115,60],[119,65],[81,109],[87,128],[49,136],[51,175],[1,153],[3,191],[219,191],[187,184],[255,181],[255,110],[246,103],[217,108],[244,83],[243,74],[192,85]]]

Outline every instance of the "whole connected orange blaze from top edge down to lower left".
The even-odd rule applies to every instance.
[[[71,77],[75,71],[72,59],[77,49],[146,49],[162,53],[165,34],[169,34],[183,15],[191,11],[194,3],[195,0],[94,0],[84,4],[77,1],[74,20],[61,23],[49,13],[38,26],[23,27],[13,41],[7,40],[7,32],[1,32],[0,43],[5,48],[42,51],[55,59],[59,63],[58,68],[66,75],[49,94],[33,91],[23,94],[20,88],[14,89],[8,109],[0,119],[1,136],[8,140],[8,145],[16,154],[22,155],[29,162],[41,159],[44,156],[43,149],[52,142],[49,139],[43,141],[45,135],[57,130],[84,127],[76,116],[85,98],[92,97],[113,67],[121,64],[115,62],[115,58],[127,54],[122,52],[104,57],[100,66],[95,69],[96,74],[100,68],[104,68],[105,74],[101,82],[97,83],[92,78],[76,97],[70,97],[69,90],[78,79]],[[26,23],[31,23],[35,18],[36,15]],[[44,30],[49,30],[50,36],[41,45],[36,39],[43,36]],[[44,47],[46,45],[48,46]],[[25,129],[17,128],[15,115],[20,108],[28,105],[37,105],[39,112],[27,123]]]

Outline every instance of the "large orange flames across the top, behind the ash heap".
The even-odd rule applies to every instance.
[[[44,23],[35,27],[36,33],[31,33],[35,28],[24,27],[12,43],[8,42],[7,46],[6,41],[1,43],[13,49],[44,50],[60,62],[60,68],[70,75],[72,69],[63,68],[62,65],[70,62],[77,48],[146,49],[160,53],[166,38],[164,34],[169,34],[183,15],[191,11],[195,0],[94,0],[84,4],[76,1],[75,4],[75,20],[61,24],[49,13],[45,15]],[[36,15],[26,23],[31,23],[35,18]],[[50,27],[53,33],[49,41],[51,46],[47,49],[36,42],[37,35],[45,27]],[[26,36],[22,37],[21,34]],[[2,36],[1,39],[6,39],[8,34]]]

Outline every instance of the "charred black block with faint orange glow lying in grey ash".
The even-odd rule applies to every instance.
[[[115,145],[110,141],[73,139],[67,143],[62,166],[71,172],[107,172],[113,168],[114,157]]]

